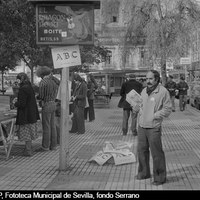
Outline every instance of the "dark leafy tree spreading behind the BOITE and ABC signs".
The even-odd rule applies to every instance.
[[[31,69],[37,65],[53,67],[51,48],[36,44],[35,7],[27,0],[1,0],[0,28],[4,34],[4,43],[8,51],[22,59]],[[82,63],[99,63],[106,59],[107,49],[100,46],[81,46]],[[72,68],[72,70],[77,70]]]

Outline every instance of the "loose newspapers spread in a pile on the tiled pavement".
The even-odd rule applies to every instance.
[[[102,151],[98,151],[90,160],[95,161],[99,165],[105,164],[111,158],[114,159],[115,165],[128,164],[136,162],[134,153],[130,151],[132,147],[130,142],[105,142]]]

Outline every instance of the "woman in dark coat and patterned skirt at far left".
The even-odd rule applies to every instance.
[[[16,125],[19,126],[19,140],[25,141],[24,156],[32,156],[32,140],[38,137],[37,120],[40,119],[35,99],[35,92],[25,73],[19,73],[17,79],[20,81],[17,101]]]

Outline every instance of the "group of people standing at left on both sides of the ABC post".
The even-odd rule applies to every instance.
[[[47,66],[38,66],[36,75],[41,78],[36,93],[29,77],[19,73],[17,97],[13,104],[17,109],[16,126],[19,140],[25,142],[24,156],[32,156],[32,141],[38,138],[38,122],[42,124],[42,143],[37,151],[56,150],[60,144],[61,100],[58,98],[60,80]],[[74,75],[71,88],[70,112],[73,114],[70,133],[84,134],[85,120],[95,120],[94,93],[97,88],[94,77],[87,79]],[[41,108],[41,117],[39,115]]]

